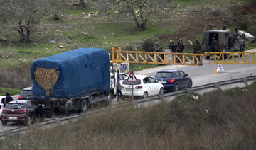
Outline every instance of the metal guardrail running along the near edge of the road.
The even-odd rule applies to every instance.
[[[164,94],[164,97],[178,96],[178,95],[181,95],[183,93],[193,93],[195,91],[206,90],[208,88],[220,88],[220,86],[225,86],[225,85],[234,84],[234,83],[245,83],[245,86],[247,86],[248,81],[252,81],[252,80],[256,80],[256,75],[254,75],[254,76],[251,75],[251,76],[247,76],[245,78],[239,78],[239,79],[231,79],[231,80],[228,80],[228,81],[208,83],[208,84],[205,84],[205,85],[202,85],[202,86],[195,86],[195,87],[192,87],[192,88],[187,88],[186,90],[166,93],[166,94]],[[160,99],[159,96],[153,96],[153,97],[150,97],[150,98],[144,98],[142,100],[135,100],[135,103],[133,104],[134,105],[133,107],[137,108],[139,103],[144,103],[144,102],[148,102],[150,100],[159,100],[159,99]],[[131,105],[131,103],[121,103],[121,104],[117,104],[117,105],[112,105],[112,106],[110,106],[110,108],[121,108],[121,107],[124,107],[126,105]],[[87,112],[87,113],[85,113],[85,115],[90,116],[90,115],[93,115],[93,114],[104,112],[106,110],[108,110],[108,108],[102,108],[100,110]],[[55,123],[60,125],[61,122],[63,122],[63,121],[73,120],[73,119],[78,118],[78,117],[80,117],[80,115],[73,115],[73,116],[70,116],[70,117],[55,118],[55,119],[52,119],[52,120],[47,120],[45,122],[41,122],[39,124],[39,126],[41,127],[43,125],[50,125],[50,124],[55,124]],[[13,134],[16,134],[18,132],[25,131],[26,129],[28,129],[28,127],[18,127],[16,129],[10,129],[8,131],[0,132],[0,139],[3,139],[6,135],[13,135]]]

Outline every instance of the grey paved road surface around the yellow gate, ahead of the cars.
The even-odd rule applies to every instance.
[[[247,52],[256,52],[256,49]],[[242,59],[242,58],[240,58]],[[209,63],[209,61],[211,63]],[[134,74],[145,74],[155,76],[157,71],[164,69],[181,69],[188,74],[193,81],[193,86],[200,86],[206,83],[214,83],[217,81],[225,81],[230,79],[242,78],[246,76],[256,75],[256,64],[221,64],[225,72],[215,74],[218,64],[214,64],[213,57],[210,60],[203,59],[202,66],[183,66],[183,65],[167,65],[142,71],[134,71]]]

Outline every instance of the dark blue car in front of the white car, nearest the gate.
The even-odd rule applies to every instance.
[[[155,78],[164,85],[164,90],[168,91],[192,87],[192,79],[181,70],[161,70],[156,73]]]

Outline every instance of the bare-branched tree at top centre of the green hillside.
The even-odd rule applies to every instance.
[[[117,0],[120,13],[129,13],[137,28],[146,29],[149,16],[156,10],[152,0]]]

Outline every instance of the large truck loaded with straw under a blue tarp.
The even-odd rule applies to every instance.
[[[35,100],[62,111],[68,97],[74,110],[82,112],[109,98],[109,54],[100,48],[79,48],[38,59],[31,65],[31,79]]]

